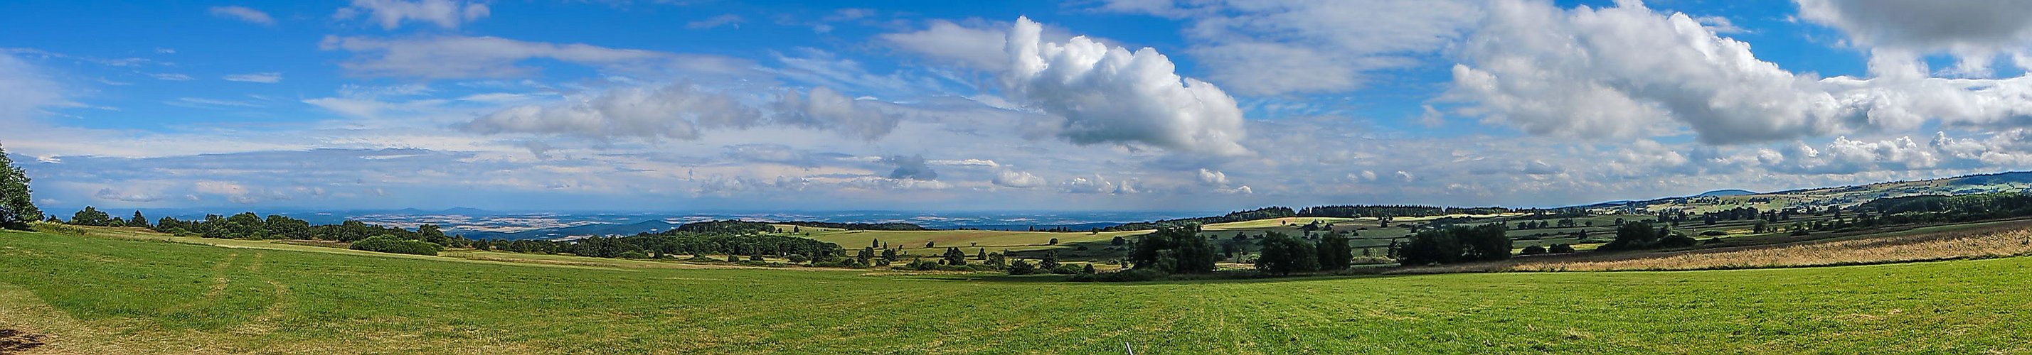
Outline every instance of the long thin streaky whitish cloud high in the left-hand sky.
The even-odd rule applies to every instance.
[[[685,57],[638,49],[608,49],[595,45],[528,43],[500,37],[419,37],[419,39],[368,39],[368,37],[325,37],[323,51],[350,51],[352,61],[339,63],[354,75],[370,77],[421,77],[421,79],[478,79],[478,77],[524,77],[536,73],[522,65],[530,59],[551,59],[601,67],[654,67],[662,61],[685,61],[695,67],[742,67],[734,59]]]

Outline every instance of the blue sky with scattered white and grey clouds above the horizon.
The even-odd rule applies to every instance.
[[[1557,207],[2024,170],[2018,0],[0,4],[45,209]]]

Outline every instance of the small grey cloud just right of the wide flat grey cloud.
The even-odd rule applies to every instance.
[[[790,126],[835,130],[862,140],[876,140],[896,130],[896,114],[870,105],[827,87],[811,87],[805,95],[784,93],[774,103],[774,120]]]

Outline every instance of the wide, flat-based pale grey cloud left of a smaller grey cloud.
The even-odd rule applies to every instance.
[[[516,105],[461,128],[480,134],[561,134],[583,138],[697,140],[709,128],[748,128],[762,114],[738,99],[687,83],[616,87],[557,105]]]

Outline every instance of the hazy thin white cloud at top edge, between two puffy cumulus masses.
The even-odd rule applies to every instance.
[[[1347,91],[1370,71],[1402,69],[1457,41],[1475,0],[1109,0],[1101,10],[1189,18],[1191,53],[1240,93]]]

